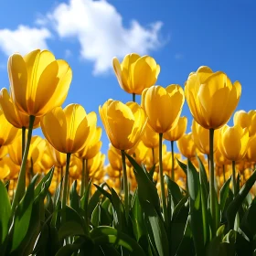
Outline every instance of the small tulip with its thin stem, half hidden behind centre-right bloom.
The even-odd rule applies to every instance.
[[[171,177],[174,180],[175,178],[175,157],[174,157],[174,142],[177,141],[187,130],[187,117],[183,116],[178,119],[178,122],[174,128],[164,133],[164,138],[167,141],[171,142],[171,151],[172,151],[172,172]]]

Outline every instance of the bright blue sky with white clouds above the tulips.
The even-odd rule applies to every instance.
[[[240,80],[238,109],[255,109],[255,1],[43,1],[9,0],[0,8],[0,80],[8,87],[7,56],[49,48],[73,70],[64,106],[80,103],[98,113],[109,98],[131,101],[112,71],[120,60],[137,52],[161,66],[158,85],[184,85],[199,66],[225,71]],[[190,131],[191,115],[185,103]],[[101,125],[99,117],[98,121]],[[229,122],[231,124],[231,122]],[[36,131],[36,133],[40,133]],[[109,141],[102,135],[102,152]]]

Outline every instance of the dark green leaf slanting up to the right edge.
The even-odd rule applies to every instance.
[[[256,171],[254,171],[246,183],[241,187],[239,194],[234,198],[234,200],[229,204],[227,208],[227,220],[228,220],[228,230],[233,229],[234,222],[236,219],[236,214],[241,207],[241,204],[247,194],[250,192],[251,187],[256,181]]]

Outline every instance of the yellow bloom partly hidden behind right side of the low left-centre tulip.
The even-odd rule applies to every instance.
[[[96,127],[97,115],[95,112],[88,114],[88,123],[91,127],[85,146],[76,155],[82,159],[91,159],[101,150],[101,127]]]

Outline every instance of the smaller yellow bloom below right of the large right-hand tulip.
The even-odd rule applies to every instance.
[[[219,132],[219,150],[230,161],[239,161],[244,157],[248,142],[248,129],[240,125],[229,127],[226,124]]]

